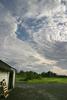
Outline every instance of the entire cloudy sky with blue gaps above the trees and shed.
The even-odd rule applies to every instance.
[[[0,59],[67,75],[67,0],[0,0]]]

